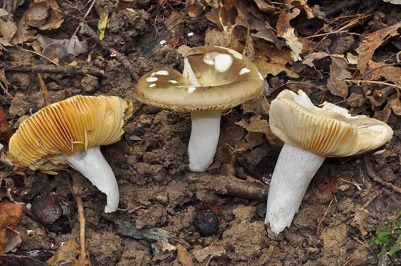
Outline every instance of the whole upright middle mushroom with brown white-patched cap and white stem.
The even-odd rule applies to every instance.
[[[184,59],[184,74],[163,68],[150,71],[137,83],[141,102],[191,113],[189,170],[205,172],[216,153],[221,110],[261,93],[264,79],[256,66],[238,52],[219,46],[200,46]]]

